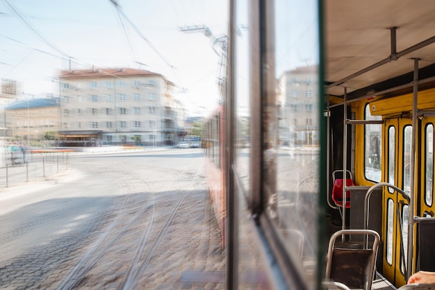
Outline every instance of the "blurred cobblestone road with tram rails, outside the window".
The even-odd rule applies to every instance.
[[[176,282],[171,273],[186,264],[206,268],[198,264],[204,259],[177,256],[190,239],[207,239],[207,247],[213,240],[202,253],[222,262],[203,156],[201,149],[76,155],[67,171],[2,189],[0,289],[154,289]],[[186,244],[167,250],[170,233],[190,222],[180,212],[198,226],[184,228]],[[152,278],[161,255],[173,262],[160,266],[178,272]]]

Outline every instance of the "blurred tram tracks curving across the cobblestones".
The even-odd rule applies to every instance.
[[[168,171],[167,169],[165,170],[166,172]],[[196,173],[188,173],[187,169],[183,171],[169,169],[169,171],[169,174],[174,176],[174,180],[189,180],[190,185],[188,186],[188,189],[186,189],[186,191],[184,191],[180,196],[177,203],[172,207],[172,209],[170,209],[170,212],[165,214],[167,217],[165,218],[166,221],[163,227],[158,228],[158,226],[155,224],[156,207],[158,207],[158,203],[160,203],[161,200],[162,204],[167,203],[167,198],[164,198],[165,194],[160,193],[158,196],[156,196],[158,189],[155,187],[155,185],[151,185],[151,182],[147,182],[143,176],[139,176],[138,174],[132,175],[131,173],[125,173],[124,171],[117,169],[99,169],[99,172],[97,173],[108,173],[110,176],[113,175],[118,182],[122,183],[122,187],[124,188],[123,194],[126,196],[124,201],[122,201],[122,206],[117,212],[115,219],[113,219],[108,228],[104,231],[104,234],[99,237],[92,248],[88,250],[88,252],[81,258],[80,262],[74,266],[73,270],[69,273],[69,275],[67,275],[65,280],[63,280],[57,289],[78,289],[81,287],[86,287],[88,280],[92,279],[92,269],[95,268],[97,263],[99,263],[101,259],[103,259],[104,256],[110,252],[110,250],[115,248],[116,244],[120,244],[124,235],[126,235],[129,230],[132,230],[134,227],[140,225],[140,223],[143,221],[146,221],[146,228],[142,231],[143,234],[140,237],[138,244],[129,245],[129,248],[136,248],[136,252],[134,253],[134,258],[131,260],[131,263],[129,263],[126,274],[123,278],[119,278],[122,279],[122,285],[120,289],[134,289],[138,285],[142,274],[145,272],[149,262],[154,257],[158,246],[161,244],[167,229],[174,220],[174,217],[188,195],[190,188],[192,185],[198,183],[197,176],[199,175],[199,170],[197,170]],[[186,174],[187,177],[185,177]],[[128,207],[130,206],[129,203],[131,202],[129,201],[129,194],[132,192],[131,185],[133,184],[140,184],[142,186],[146,185],[152,197],[151,200],[145,203],[145,207],[143,207],[142,210],[131,216],[132,214]],[[128,219],[128,223],[122,225],[123,219]],[[160,224],[161,223],[162,222],[160,222]],[[122,230],[119,230],[119,232],[115,233],[116,229],[120,227],[122,227]],[[137,240],[138,239],[136,239],[136,241]],[[147,250],[145,250],[146,248]]]

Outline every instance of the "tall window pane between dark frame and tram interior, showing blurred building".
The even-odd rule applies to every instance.
[[[265,214],[306,288],[314,289],[320,187],[318,1],[274,3],[274,39],[268,40],[271,51],[262,71]]]

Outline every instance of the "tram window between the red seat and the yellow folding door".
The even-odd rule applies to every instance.
[[[366,105],[366,120],[381,120],[381,116],[372,116],[369,104]],[[366,178],[375,182],[381,181],[381,132],[380,124],[366,124],[365,128],[365,166]]]

